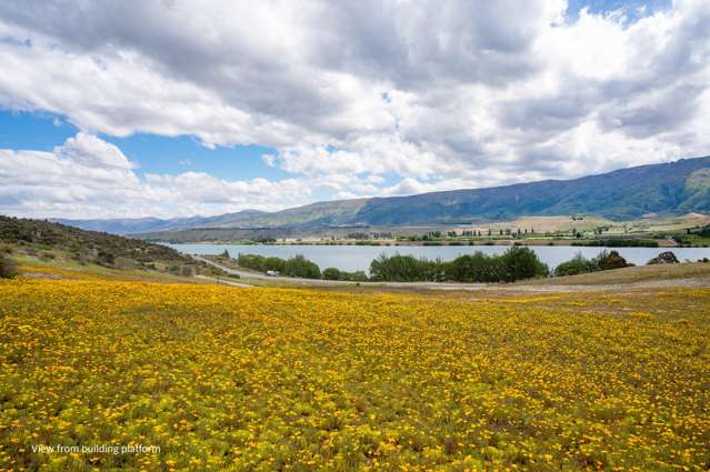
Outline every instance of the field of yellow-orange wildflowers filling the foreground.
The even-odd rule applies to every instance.
[[[2,470],[710,468],[710,290],[12,280],[0,320]]]

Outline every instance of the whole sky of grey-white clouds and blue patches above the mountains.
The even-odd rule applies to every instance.
[[[708,31],[707,0],[9,0],[0,213],[278,210],[708,154]]]

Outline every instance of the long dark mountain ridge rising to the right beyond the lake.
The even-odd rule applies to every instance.
[[[82,229],[147,233],[189,229],[309,229],[503,221],[523,215],[593,213],[613,220],[647,213],[710,212],[710,157],[544,180],[409,197],[337,200],[278,212],[247,210],[171,220],[54,220]]]

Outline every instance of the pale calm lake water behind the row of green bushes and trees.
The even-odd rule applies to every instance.
[[[370,262],[378,255],[386,253],[411,254],[417,258],[437,259],[444,261],[456,259],[460,254],[472,254],[481,251],[486,254],[500,254],[509,245],[267,245],[267,244],[167,244],[186,254],[220,254],[224,250],[229,251],[232,258],[237,258],[240,252],[243,254],[276,255],[288,259],[302,254],[307,259],[316,262],[321,270],[326,268],[337,268],[340,270],[364,271],[370,269]],[[529,247],[538,258],[550,269],[554,269],[559,263],[570,260],[577,252],[581,252],[586,258],[593,258],[604,248],[581,248],[569,245],[531,245]],[[672,251],[680,261],[689,259],[697,261],[702,258],[710,258],[710,248],[608,248],[607,250],[619,251],[629,262],[637,265],[646,264],[649,259],[657,257],[664,251]]]

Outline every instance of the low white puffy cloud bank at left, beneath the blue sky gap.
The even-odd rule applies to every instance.
[[[117,147],[78,133],[51,152],[0,150],[0,213],[30,217],[176,217],[309,201],[296,179],[229,181],[202,172],[138,177]]]

